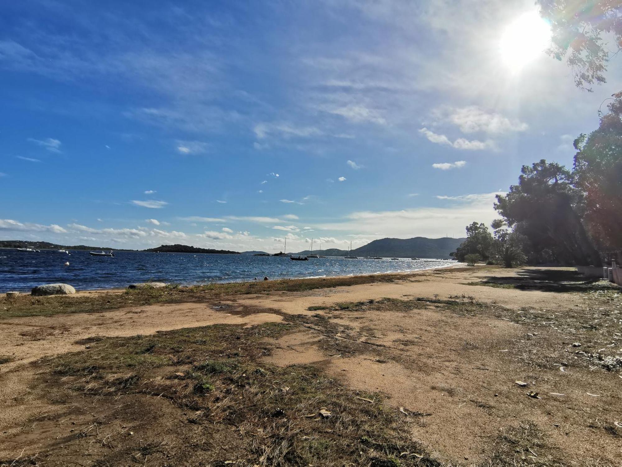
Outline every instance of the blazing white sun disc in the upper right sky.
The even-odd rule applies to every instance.
[[[550,25],[536,12],[525,13],[501,35],[499,49],[504,64],[518,72],[550,45]]]

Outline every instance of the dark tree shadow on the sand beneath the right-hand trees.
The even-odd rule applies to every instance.
[[[608,281],[587,278],[577,271],[552,269],[522,269],[513,277],[488,276],[485,280],[471,282],[470,285],[562,293],[611,290],[615,287]]]

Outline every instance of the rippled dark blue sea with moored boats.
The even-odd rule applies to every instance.
[[[65,265],[68,262],[69,265]],[[76,290],[126,287],[157,281],[196,285],[284,278],[355,276],[417,271],[447,267],[450,260],[383,258],[309,258],[224,255],[209,253],[114,252],[114,257],[95,257],[88,251],[55,250],[20,252],[0,248],[0,292],[29,291],[50,283],[66,283]]]

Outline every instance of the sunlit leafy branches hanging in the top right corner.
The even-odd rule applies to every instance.
[[[591,92],[593,83],[605,83],[607,63],[622,49],[620,0],[537,0],[537,4],[551,25],[549,53],[566,59],[575,85]],[[614,37],[613,47],[603,39],[606,35]]]

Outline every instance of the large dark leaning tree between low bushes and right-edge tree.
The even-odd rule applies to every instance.
[[[522,166],[518,185],[497,196],[494,209],[506,225],[525,235],[535,252],[553,253],[555,260],[577,265],[600,265],[578,212],[582,193],[572,186],[572,174],[544,159]]]

